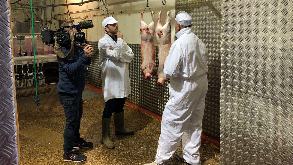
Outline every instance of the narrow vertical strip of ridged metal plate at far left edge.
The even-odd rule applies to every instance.
[[[14,74],[8,0],[0,1],[0,164],[18,164]]]

